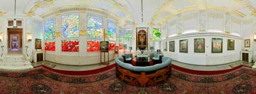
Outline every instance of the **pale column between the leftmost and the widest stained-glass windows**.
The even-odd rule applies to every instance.
[[[60,55],[62,52],[62,40],[61,40],[61,21],[60,12],[55,14],[55,55]]]

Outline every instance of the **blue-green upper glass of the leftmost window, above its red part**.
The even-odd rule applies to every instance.
[[[44,36],[45,36],[45,40],[55,39],[55,19],[50,19],[48,21],[45,21]]]

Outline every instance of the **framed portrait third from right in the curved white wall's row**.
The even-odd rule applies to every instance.
[[[194,52],[195,53],[204,53],[206,52],[205,48],[205,39],[194,39]]]

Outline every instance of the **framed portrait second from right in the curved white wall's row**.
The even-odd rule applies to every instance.
[[[222,53],[222,44],[222,39],[212,38],[212,53]]]

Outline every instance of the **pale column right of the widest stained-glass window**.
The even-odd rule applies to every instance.
[[[80,56],[85,56],[87,54],[87,15],[85,14],[86,11],[85,10],[80,10],[79,13],[79,55]]]

